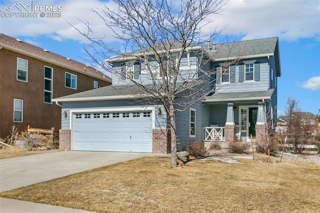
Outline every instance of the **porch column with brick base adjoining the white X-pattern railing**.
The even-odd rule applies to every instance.
[[[227,103],[226,119],[224,125],[224,139],[226,142],[233,142],[235,139],[235,125],[234,125],[234,113],[233,103]]]

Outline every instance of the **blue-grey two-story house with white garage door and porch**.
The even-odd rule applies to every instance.
[[[170,51],[179,52],[178,45]],[[106,59],[112,64],[112,85],[54,99],[69,114],[61,118],[62,149],[170,152],[170,123],[163,105],[136,101],[143,90],[127,79],[150,89],[151,79],[161,84],[157,62],[145,50],[132,55],[151,60],[121,55]],[[171,54],[171,60],[175,58]],[[145,70],[145,62],[153,63],[149,67],[154,66],[154,72]],[[204,73],[211,73],[205,79],[212,92],[188,110],[176,112],[178,150],[195,140],[227,142],[237,135],[242,140],[250,135],[263,139],[266,123],[276,121],[276,86],[281,75],[278,38],[187,47],[179,76],[191,77],[177,79],[177,83]]]

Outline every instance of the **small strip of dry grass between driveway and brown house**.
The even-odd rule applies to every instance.
[[[3,146],[0,148],[0,159],[4,158],[10,158],[10,157],[20,157],[20,156],[26,156],[26,155],[32,155],[32,154],[41,154],[41,153],[47,153],[57,151],[56,149],[50,149],[50,150],[33,150],[28,151],[26,148],[13,146],[12,148]]]

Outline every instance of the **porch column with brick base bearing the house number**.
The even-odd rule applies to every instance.
[[[264,102],[258,102],[258,113],[255,124],[255,140],[256,142],[262,142],[265,140],[266,125],[265,125],[265,111]]]

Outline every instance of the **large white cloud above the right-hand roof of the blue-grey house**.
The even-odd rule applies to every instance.
[[[223,34],[244,35],[244,40],[278,36],[294,41],[320,36],[319,12],[318,0],[231,0],[222,15],[210,19],[212,29],[227,25]]]

